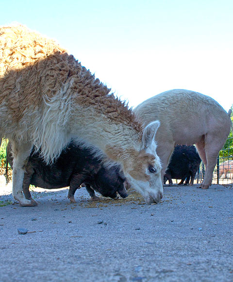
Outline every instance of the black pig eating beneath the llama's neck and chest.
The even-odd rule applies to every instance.
[[[13,157],[11,144],[7,146],[7,160],[11,167]],[[88,149],[80,148],[71,142],[64,149],[55,163],[47,165],[38,153],[31,153],[25,166],[23,193],[26,199],[32,200],[29,185],[44,189],[57,189],[69,186],[68,198],[75,203],[74,194],[84,183],[92,200],[98,199],[95,191],[105,197],[117,198],[116,192],[125,198],[128,196],[124,187],[124,177],[118,167],[105,168]],[[36,202],[34,203],[37,204]]]

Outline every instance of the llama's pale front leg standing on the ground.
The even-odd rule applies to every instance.
[[[13,188],[12,194],[13,197],[19,202],[21,207],[34,207],[37,203],[33,200],[27,200],[23,194],[23,176],[24,176],[24,165],[27,164],[28,158],[32,151],[31,144],[18,145],[13,143],[13,152],[14,152],[14,162],[13,162]]]

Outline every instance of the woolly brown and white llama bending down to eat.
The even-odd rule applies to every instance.
[[[20,205],[34,204],[22,194],[32,146],[48,163],[71,139],[120,164],[145,200],[158,202],[158,126],[142,130],[132,110],[53,40],[22,25],[0,28],[0,137],[13,145],[13,196]]]

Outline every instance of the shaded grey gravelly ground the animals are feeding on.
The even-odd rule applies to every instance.
[[[133,191],[91,202],[85,189],[70,204],[67,192],[0,207],[0,282],[233,281],[231,185],[165,187],[157,205]]]

